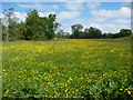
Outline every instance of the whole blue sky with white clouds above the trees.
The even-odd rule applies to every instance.
[[[40,17],[54,13],[65,32],[71,32],[71,26],[76,23],[98,28],[103,33],[131,29],[130,2],[2,2],[2,10],[8,8],[14,8],[21,21],[25,20],[29,9],[37,9]]]

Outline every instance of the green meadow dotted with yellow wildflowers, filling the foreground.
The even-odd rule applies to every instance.
[[[14,41],[2,50],[3,97],[133,97],[129,38]]]

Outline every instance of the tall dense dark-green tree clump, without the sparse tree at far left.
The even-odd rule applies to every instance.
[[[31,10],[25,20],[25,40],[51,40],[59,23],[55,22],[55,14],[39,17],[37,10]]]

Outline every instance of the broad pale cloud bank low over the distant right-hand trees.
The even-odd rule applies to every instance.
[[[123,9],[117,10],[117,11],[121,12],[122,10]],[[123,10],[123,12],[125,12],[125,10]],[[121,12],[121,13],[123,13],[123,12]],[[115,13],[115,14],[117,14],[117,13]],[[111,14],[109,17],[106,17],[106,13],[104,13],[102,16],[94,14],[93,18],[86,19],[86,20],[85,19],[74,19],[73,23],[81,23],[81,24],[83,24],[84,28],[94,27],[94,28],[100,29],[103,33],[105,33],[105,32],[116,33],[120,31],[120,29],[131,29],[131,19],[129,16],[127,17],[121,17],[121,16],[116,17],[115,14],[113,14],[113,16]]]

